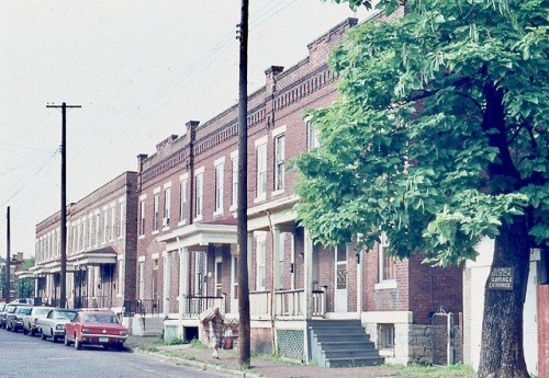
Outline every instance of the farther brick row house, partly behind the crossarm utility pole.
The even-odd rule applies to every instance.
[[[66,303],[113,308],[135,298],[136,172],[125,172],[67,206]],[[35,297],[60,302],[60,213],[36,225]]]

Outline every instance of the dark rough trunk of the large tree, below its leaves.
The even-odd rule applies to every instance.
[[[513,289],[490,289],[488,283],[485,285],[479,378],[529,377],[523,347],[529,245],[525,216],[515,217],[512,225],[504,222],[500,228],[492,270],[512,267]]]

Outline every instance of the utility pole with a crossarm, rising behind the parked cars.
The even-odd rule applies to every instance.
[[[60,279],[59,307],[66,307],[67,300],[67,107],[82,107],[80,105],[49,105],[46,107],[61,108],[61,226],[60,226]]]

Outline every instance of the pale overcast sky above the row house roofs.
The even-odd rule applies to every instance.
[[[366,10],[330,0],[250,0],[248,93],[307,44]],[[240,0],[1,0],[0,256],[34,255],[36,224],[155,152],[184,124],[237,103]]]

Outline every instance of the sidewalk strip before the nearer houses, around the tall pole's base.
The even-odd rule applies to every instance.
[[[143,339],[143,337],[141,337]],[[220,358],[212,357],[212,351],[204,346],[158,345],[144,340],[127,342],[127,347],[137,353],[147,353],[172,363],[189,365],[203,370],[217,371],[220,376],[267,377],[267,378],[333,378],[333,377],[395,377],[395,368],[391,366],[327,368],[309,366],[270,356],[253,356],[251,366],[240,370],[236,351],[220,351]]]

